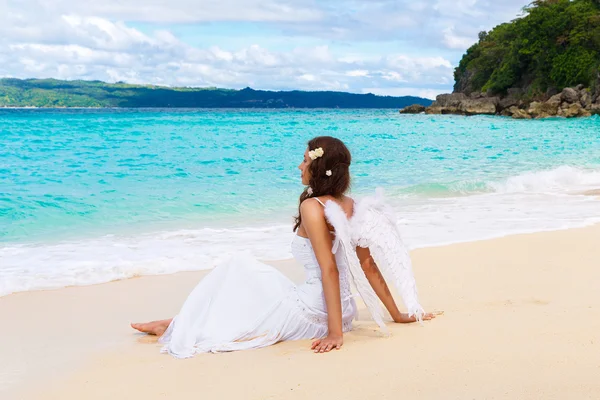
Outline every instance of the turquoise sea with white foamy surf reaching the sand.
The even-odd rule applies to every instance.
[[[0,110],[0,295],[290,256],[317,135],[411,247],[600,222],[600,118],[396,110]]]

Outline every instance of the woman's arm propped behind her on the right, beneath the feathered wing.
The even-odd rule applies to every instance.
[[[379,271],[379,267],[371,257],[371,251],[368,248],[357,247],[356,255],[360,260],[360,266],[362,267],[365,275],[373,287],[373,290],[385,306],[385,308],[389,311],[390,315],[394,322],[399,323],[407,323],[407,322],[415,322],[417,319],[414,316],[409,316],[407,313],[401,313],[394,301],[394,297],[390,292],[390,288],[388,287],[381,271]],[[433,316],[431,314],[425,314],[423,319],[431,319]]]

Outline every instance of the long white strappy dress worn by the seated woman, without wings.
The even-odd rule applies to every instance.
[[[342,327],[352,329],[356,303],[342,246],[334,242],[340,276]],[[296,286],[277,269],[238,254],[212,270],[190,293],[160,342],[178,358],[268,346],[283,340],[327,336],[321,269],[309,239],[295,236],[294,258],[306,281]]]

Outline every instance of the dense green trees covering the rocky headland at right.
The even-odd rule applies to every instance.
[[[481,32],[454,72],[454,91],[527,98],[579,84],[600,90],[600,0],[537,0],[524,15]]]

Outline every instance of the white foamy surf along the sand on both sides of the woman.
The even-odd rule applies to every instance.
[[[577,184],[593,184],[595,181],[590,179],[584,173]],[[600,201],[595,197],[531,193],[547,190],[547,186],[528,190],[428,200],[390,196],[389,200],[410,249],[600,222]],[[291,257],[293,235],[289,224],[273,221],[271,225],[237,229],[186,229],[7,244],[0,246],[0,296],[205,270],[238,250],[250,251],[262,260],[287,259]]]

